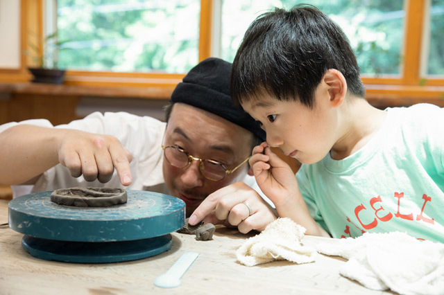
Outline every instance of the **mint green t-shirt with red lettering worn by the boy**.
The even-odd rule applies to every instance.
[[[302,165],[302,196],[333,238],[402,231],[444,242],[444,109],[386,111],[382,128],[355,154]]]

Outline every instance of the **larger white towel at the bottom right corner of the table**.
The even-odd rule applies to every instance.
[[[407,233],[364,233],[318,244],[319,253],[348,259],[339,273],[375,290],[444,294],[444,244]]]

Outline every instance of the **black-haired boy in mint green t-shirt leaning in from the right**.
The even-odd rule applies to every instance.
[[[250,166],[278,215],[309,235],[405,231],[444,242],[444,110],[369,105],[347,38],[320,10],[253,21],[230,91],[266,131]],[[269,147],[303,163],[296,181]]]

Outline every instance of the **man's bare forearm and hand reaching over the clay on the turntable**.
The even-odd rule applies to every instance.
[[[0,132],[0,150],[0,184],[31,184],[58,163],[87,181],[109,181],[116,168],[121,183],[131,183],[131,155],[113,136],[16,125]]]

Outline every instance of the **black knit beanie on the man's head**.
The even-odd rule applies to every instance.
[[[183,78],[173,94],[171,103],[182,102],[220,116],[247,129],[266,141],[264,130],[230,98],[231,64],[216,57],[203,60]]]

